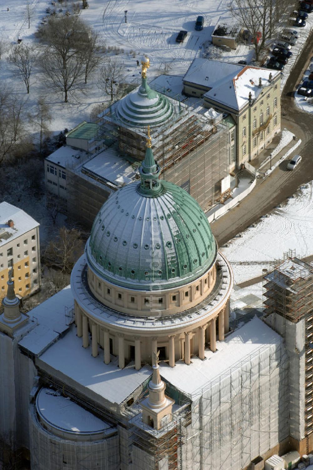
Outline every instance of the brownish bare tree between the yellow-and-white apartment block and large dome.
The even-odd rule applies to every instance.
[[[61,227],[55,240],[51,240],[44,257],[62,272],[70,273],[74,263],[83,253],[80,231]]]

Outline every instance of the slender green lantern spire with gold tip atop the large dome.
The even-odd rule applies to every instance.
[[[160,166],[155,162],[152,153],[152,142],[150,137],[150,126],[148,125],[148,137],[146,139],[146,150],[144,161],[139,166],[140,185],[138,191],[144,196],[157,196],[162,190],[159,180]]]

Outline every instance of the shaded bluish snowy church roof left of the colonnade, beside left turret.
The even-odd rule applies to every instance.
[[[67,286],[29,312],[36,326],[26,335],[19,345],[33,354],[39,355],[47,349],[61,333],[69,327],[74,305],[71,287]]]

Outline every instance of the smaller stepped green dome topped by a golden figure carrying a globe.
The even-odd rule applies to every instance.
[[[147,84],[146,70],[150,67],[149,59],[143,57],[141,63],[141,86],[119,101],[115,109],[116,118],[131,126],[164,124],[174,114],[173,105],[166,96],[155,92]]]

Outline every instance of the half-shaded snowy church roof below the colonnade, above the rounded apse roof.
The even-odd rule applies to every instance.
[[[72,326],[64,337],[40,356],[40,367],[45,363],[109,402],[119,404],[152,374],[148,366],[135,370],[133,364],[120,369],[117,360],[104,364],[103,352],[93,357],[91,345],[86,349],[81,346],[81,338],[76,336],[76,329]]]

